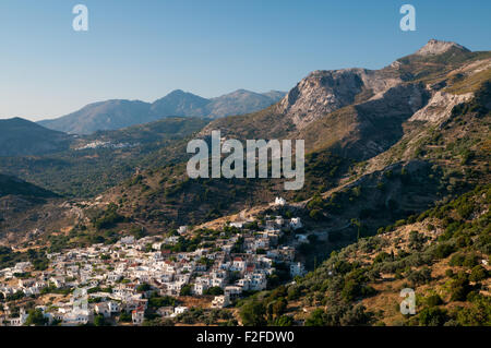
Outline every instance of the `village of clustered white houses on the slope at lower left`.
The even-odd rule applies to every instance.
[[[271,205],[280,209],[287,203],[276,197]],[[227,221],[223,230],[202,231],[205,238],[182,251],[182,243],[195,239],[181,226],[172,236],[127,236],[115,244],[51,253],[45,271],[20,262],[0,269],[0,325],[26,325],[33,311],[45,325],[86,325],[96,319],[142,325],[149,302],[159,303],[152,308],[153,317],[173,319],[189,311],[173,301],[182,296],[207,296],[208,308],[224,309],[265,290],[278,265],[289,279],[306,274],[296,261],[296,245],[309,242],[296,233],[302,227],[300,217],[282,215],[266,216],[261,224]],[[35,301],[34,309],[19,304],[25,298]]]

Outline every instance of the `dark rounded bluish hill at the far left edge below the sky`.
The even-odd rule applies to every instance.
[[[0,120],[0,156],[43,155],[67,149],[72,136],[34,122]]]

